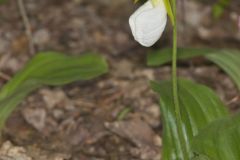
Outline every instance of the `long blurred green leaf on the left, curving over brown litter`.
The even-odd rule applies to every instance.
[[[79,80],[90,80],[108,70],[97,54],[66,56],[56,52],[37,54],[0,91],[0,128],[16,106],[33,90],[59,86]]]

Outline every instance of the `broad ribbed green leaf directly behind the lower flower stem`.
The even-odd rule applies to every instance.
[[[183,160],[177,133],[171,81],[152,82],[154,91],[160,95],[163,122],[163,160]],[[228,111],[215,93],[206,86],[179,79],[179,100],[184,126],[183,134],[189,158],[193,157],[190,142],[209,123],[227,117]]]

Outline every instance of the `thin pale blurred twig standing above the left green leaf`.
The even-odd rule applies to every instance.
[[[25,30],[26,30],[26,35],[28,37],[28,43],[29,43],[29,52],[30,54],[34,54],[35,53],[35,47],[34,47],[34,43],[33,43],[33,39],[32,39],[32,30],[31,30],[31,24],[29,21],[29,18],[27,16],[27,12],[23,3],[23,0],[17,0],[18,1],[18,8],[25,26]]]

